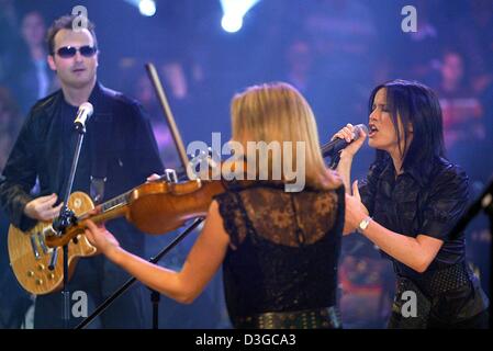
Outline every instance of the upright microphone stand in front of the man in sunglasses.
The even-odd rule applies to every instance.
[[[77,170],[77,165],[79,162],[79,156],[80,156],[80,149],[82,148],[82,141],[83,141],[83,136],[86,134],[86,126],[83,124],[79,124],[76,126],[76,131],[78,133],[77,135],[77,143],[76,143],[76,148],[74,151],[74,158],[72,158],[72,163],[71,163],[71,168],[70,168],[70,173],[68,174],[68,181],[67,181],[67,186],[65,188],[65,193],[64,193],[64,205],[60,208],[60,213],[58,215],[57,218],[55,218],[55,220],[53,222],[53,229],[56,231],[56,236],[63,236],[65,234],[65,229],[77,223],[77,217],[74,214],[74,212],[68,208],[68,199],[70,196],[71,193],[71,189],[74,185],[74,179],[76,177],[76,170]],[[70,315],[69,315],[69,309],[70,309],[70,292],[68,288],[68,244],[64,245],[63,247],[63,253],[64,253],[64,283],[63,283],[63,291],[61,291],[61,295],[64,298],[64,304],[63,304],[63,322],[64,322],[64,329],[68,329],[69,328],[69,321],[70,321]],[[57,257],[58,257],[58,249],[56,248],[53,253],[52,253],[52,258],[49,261],[49,265],[48,269],[49,270],[54,270],[56,262],[57,262]]]

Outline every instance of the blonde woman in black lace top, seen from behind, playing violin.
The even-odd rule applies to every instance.
[[[223,264],[227,310],[236,328],[339,328],[344,186],[324,166],[310,105],[287,83],[251,87],[234,97],[232,125],[233,140],[245,150],[248,141],[301,141],[304,155],[294,155],[289,166],[304,166],[304,189],[287,192],[287,174],[274,179],[273,172],[248,185],[232,182],[212,202],[180,272],[126,252],[92,223],[89,240],[144,284],[181,303],[191,303]],[[281,147],[278,156],[289,159],[287,154]],[[251,155],[245,157],[248,161]],[[274,158],[269,158],[270,170]]]

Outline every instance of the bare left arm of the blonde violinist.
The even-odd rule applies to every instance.
[[[88,228],[86,235],[89,241],[111,261],[145,285],[184,304],[192,303],[202,293],[223,262],[229,244],[215,201],[209,208],[204,228],[180,272],[148,263],[123,250],[109,231],[92,223],[88,224]]]

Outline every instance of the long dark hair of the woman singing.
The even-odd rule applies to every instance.
[[[418,171],[425,171],[426,166],[430,166],[434,158],[445,158],[441,109],[435,92],[417,81],[401,79],[388,81],[376,87],[371,92],[369,113],[372,111],[377,92],[382,88],[386,90],[386,105],[391,113],[400,148],[401,140],[404,140],[404,148],[401,149],[404,160],[402,168],[404,170],[416,168]],[[404,126],[402,133],[399,131],[399,117]],[[410,141],[411,132],[407,128],[410,124],[413,126],[412,141]],[[410,145],[408,148],[407,145]],[[377,163],[389,158],[386,151],[377,150]]]

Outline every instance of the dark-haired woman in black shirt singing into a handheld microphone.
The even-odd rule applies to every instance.
[[[369,100],[369,146],[377,157],[346,195],[346,220],[393,261],[397,288],[389,328],[488,328],[488,297],[467,265],[463,233],[450,237],[468,205],[468,178],[445,158],[438,99],[404,80]],[[347,125],[335,137],[350,139]],[[359,138],[340,155],[350,190]]]

